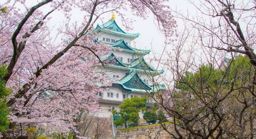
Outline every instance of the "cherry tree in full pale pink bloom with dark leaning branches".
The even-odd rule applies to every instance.
[[[166,1],[115,0],[9,0],[0,15],[0,61],[7,64],[4,76],[13,90],[7,106],[11,125],[38,124],[59,132],[76,131],[79,109],[99,111],[96,92],[103,92],[114,80],[97,69],[108,62],[101,59],[110,52],[90,30],[102,15],[115,11],[129,30],[133,20],[120,11],[130,10],[146,19],[153,13],[159,30],[167,40],[175,35],[176,22]],[[71,11],[79,10],[82,22],[71,23]],[[60,27],[51,27],[51,14],[64,14]],[[54,35],[52,35],[54,32]],[[58,39],[60,38],[60,39]],[[68,113],[68,114],[67,114]],[[15,134],[9,134],[15,136]]]

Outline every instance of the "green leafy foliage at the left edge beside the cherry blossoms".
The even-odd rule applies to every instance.
[[[10,120],[7,118],[9,110],[7,109],[6,97],[11,93],[11,89],[5,87],[4,75],[7,73],[6,66],[0,67],[0,132],[8,129]]]

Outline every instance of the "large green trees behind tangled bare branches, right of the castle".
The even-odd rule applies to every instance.
[[[223,135],[222,130],[212,130],[216,124],[237,133],[241,127],[252,129],[256,115],[255,66],[247,56],[237,55],[225,60],[220,68],[201,65],[196,71],[177,77],[176,89],[170,94],[173,105],[167,112],[181,130],[192,125],[190,129],[196,129],[193,132],[201,130]],[[218,119],[216,117],[219,120],[211,121]]]

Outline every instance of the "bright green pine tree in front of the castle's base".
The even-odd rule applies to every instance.
[[[115,126],[126,124],[126,122],[134,122],[135,126],[138,126],[137,121],[140,119],[139,111],[146,109],[146,102],[146,97],[139,98],[135,96],[125,99],[124,102],[119,105],[121,109],[119,112],[116,110],[112,111],[112,114],[120,115],[120,118],[114,120]]]

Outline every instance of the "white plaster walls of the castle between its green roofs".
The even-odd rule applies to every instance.
[[[105,32],[101,32],[98,33],[98,35],[100,35],[100,37],[98,37],[98,41],[101,41],[103,43],[108,43],[108,44],[113,44],[111,42],[111,39],[114,39],[115,41],[123,38],[125,42],[127,42],[127,45],[131,46],[131,41],[133,41],[135,38],[130,38],[130,37],[123,37],[123,36],[119,36],[119,35],[114,35],[114,34],[110,34],[110,33],[105,33]],[[105,41],[102,40],[102,38],[105,38]],[[110,39],[110,42],[106,41],[106,38]],[[133,47],[133,46],[131,46]],[[113,54],[118,57],[120,59],[120,57],[123,58],[122,62],[125,64],[130,64],[131,61],[128,62],[128,58],[129,59],[136,59],[139,58],[140,56],[144,56],[144,55],[138,55],[138,54],[134,54],[131,52],[125,52],[125,51],[113,51]],[[110,68],[110,67],[98,67],[100,70],[102,70],[103,72],[106,72],[110,77],[113,77],[113,75],[119,75],[119,79],[122,79],[126,73],[129,72],[129,70],[120,70],[120,69],[116,69],[116,68]],[[148,80],[148,84],[152,85],[152,83],[150,82],[151,79],[148,78],[148,75],[150,75],[148,73],[144,73],[144,72],[137,72],[138,75],[140,76],[140,78],[144,81]],[[146,82],[147,83],[147,82]],[[108,92],[113,93],[113,97],[108,97]],[[117,98],[116,94],[119,94],[119,97]],[[131,98],[131,96],[138,96],[138,97],[142,97],[142,96],[146,96],[146,94],[144,93],[139,93],[139,92],[127,92],[122,90],[120,87],[109,87],[108,89],[106,89],[103,93],[102,96],[100,98],[105,99],[105,100],[116,100],[116,101],[123,101],[123,94],[125,94],[125,98],[127,98],[127,94],[128,94],[128,98]],[[110,102],[99,102],[99,106],[102,106],[103,108],[108,108],[108,107],[114,107],[117,111],[120,110],[120,108],[118,107],[119,104],[111,104]],[[111,117],[112,113],[111,111],[109,111],[108,109],[103,109],[101,113],[99,113],[99,117]],[[143,118],[143,113],[142,111],[139,112],[139,116],[141,118]]]

